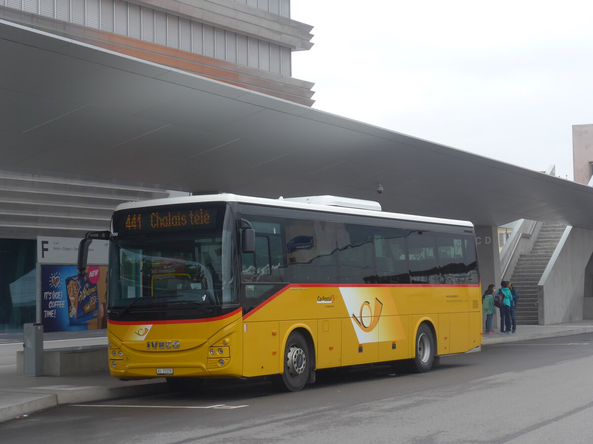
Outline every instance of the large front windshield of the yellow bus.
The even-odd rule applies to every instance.
[[[109,317],[200,318],[236,306],[232,224],[223,223],[221,210],[219,223],[207,229],[119,231],[110,250]]]

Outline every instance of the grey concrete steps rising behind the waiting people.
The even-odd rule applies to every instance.
[[[537,283],[565,229],[563,225],[544,223],[531,252],[519,256],[511,276],[511,282],[519,294],[516,312],[518,325],[538,324]]]

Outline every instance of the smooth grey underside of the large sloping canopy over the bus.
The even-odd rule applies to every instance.
[[[4,165],[593,229],[593,189],[565,179],[5,21],[0,57]]]

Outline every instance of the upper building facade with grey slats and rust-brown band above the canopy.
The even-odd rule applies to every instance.
[[[313,27],[290,0],[0,0],[0,18],[72,40],[312,105],[291,77]]]

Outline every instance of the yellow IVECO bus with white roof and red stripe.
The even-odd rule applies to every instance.
[[[482,341],[471,223],[333,196],[121,204],[111,230],[109,368],[120,379],[270,377],[391,363],[429,371]]]

